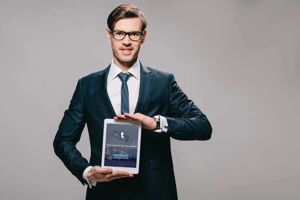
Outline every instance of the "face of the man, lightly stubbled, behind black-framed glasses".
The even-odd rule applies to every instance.
[[[120,30],[124,32],[141,32],[142,22],[138,17],[119,19],[113,30]],[[119,62],[123,65],[133,64],[139,52],[140,44],[145,40],[146,30],[141,38],[137,41],[133,41],[127,34],[122,40],[114,39],[112,33],[106,28],[106,37],[111,42],[111,48],[113,52],[114,62]],[[117,63],[115,63],[117,64]]]

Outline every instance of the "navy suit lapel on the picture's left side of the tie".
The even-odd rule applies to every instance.
[[[110,64],[108,67],[102,71],[97,76],[96,79],[96,85],[97,85],[97,93],[98,97],[106,110],[109,118],[112,118],[113,116],[116,116],[114,109],[111,105],[111,102],[109,100],[108,94],[107,94],[107,76],[108,76],[108,71],[109,71]]]

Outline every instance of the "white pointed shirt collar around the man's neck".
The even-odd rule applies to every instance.
[[[108,79],[113,80],[122,70],[113,63],[113,58],[111,60]],[[140,63],[137,59],[136,62],[127,70],[127,72],[131,73],[136,79],[139,80],[140,77]]]

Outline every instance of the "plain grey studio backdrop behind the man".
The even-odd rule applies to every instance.
[[[111,61],[124,2],[148,21],[139,59],[213,127],[171,140],[179,199],[298,199],[299,0],[0,0],[0,199],[84,199],[52,140],[78,78]],[[77,147],[89,157],[86,129]]]

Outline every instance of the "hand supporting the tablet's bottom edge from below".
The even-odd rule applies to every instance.
[[[126,171],[113,171],[111,168],[100,166],[91,167],[87,173],[87,179],[92,182],[105,182],[122,177],[133,177],[133,174]]]

